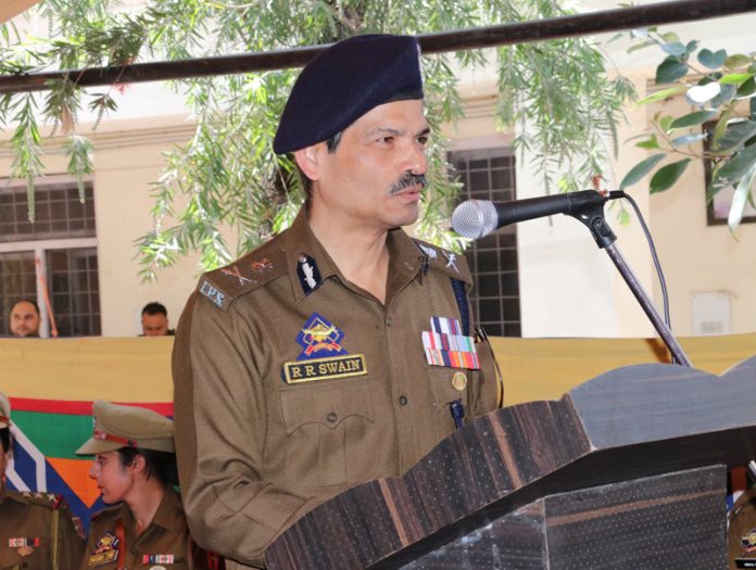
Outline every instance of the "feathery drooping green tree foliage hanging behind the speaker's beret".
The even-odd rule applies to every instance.
[[[148,0],[131,10],[108,0],[47,0],[37,10],[48,22],[46,38],[16,41],[16,31],[5,27],[0,74],[264,51],[355,34],[424,34],[568,13],[558,0]],[[428,151],[431,183],[417,233],[446,246],[463,246],[444,229],[461,185],[448,175],[440,127],[464,113],[455,67],[487,65],[492,56],[500,123],[519,127],[515,142],[538,156],[534,166],[546,189],[555,182],[563,190],[584,187],[603,173],[604,159],[616,152],[619,110],[631,93],[623,79],[607,79],[604,60],[587,38],[424,56],[434,135]],[[186,92],[197,128],[191,140],[166,155],[154,182],[154,227],[138,240],[144,278],[197,250],[204,269],[216,267],[291,221],[302,189],[290,160],[273,153],[272,139],[295,75],[279,71],[174,84]],[[51,85],[41,101],[25,93],[3,99],[0,124],[15,124],[13,176],[29,185],[43,170],[35,102],[47,122],[78,137],[67,145],[72,172],[91,172],[91,147],[75,135],[77,114],[85,104],[100,117],[114,110],[110,90],[79,89],[71,74]],[[606,148],[606,139],[614,149]],[[570,175],[559,177],[562,172]],[[234,236],[236,248],[224,236]]]

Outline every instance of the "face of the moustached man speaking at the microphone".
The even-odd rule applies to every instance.
[[[333,153],[320,149],[313,207],[378,231],[413,224],[428,162],[421,100],[378,105],[350,125]]]

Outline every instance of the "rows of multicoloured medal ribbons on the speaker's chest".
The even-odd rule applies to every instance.
[[[455,318],[431,317],[430,330],[423,331],[423,350],[431,366],[480,369],[475,339],[462,333]]]

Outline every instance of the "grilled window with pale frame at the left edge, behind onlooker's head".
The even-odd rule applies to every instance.
[[[36,220],[32,224],[26,187],[0,185],[2,334],[10,334],[10,312],[21,299],[36,301],[39,305],[43,337],[53,328],[59,337],[100,334],[91,182],[87,182],[84,190],[85,202],[81,203],[75,181],[51,177],[38,183]]]

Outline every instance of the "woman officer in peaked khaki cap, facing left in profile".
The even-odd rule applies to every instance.
[[[177,482],[173,422],[151,409],[97,401],[94,431],[77,454],[113,506],[92,517],[85,569],[217,569],[189,534]]]

